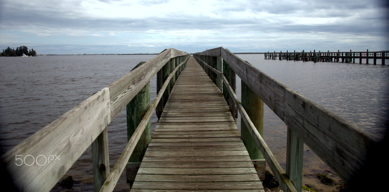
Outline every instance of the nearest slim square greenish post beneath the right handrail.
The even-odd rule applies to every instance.
[[[286,143],[286,175],[301,192],[304,142],[288,128]]]

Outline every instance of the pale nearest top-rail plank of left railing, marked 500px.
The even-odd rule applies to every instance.
[[[106,128],[110,117],[109,89],[103,88],[1,158],[20,190],[50,191]]]

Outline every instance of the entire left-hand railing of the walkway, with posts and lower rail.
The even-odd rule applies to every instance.
[[[95,191],[113,191],[134,150],[144,154],[150,140],[147,138],[150,135],[144,134],[144,130],[150,124],[153,111],[165,104],[188,58],[189,53],[175,49],[161,52],[3,154],[1,160],[19,190],[50,191],[91,146]],[[149,102],[144,111],[140,109],[144,106],[128,106],[130,101],[143,94],[142,89],[156,74],[159,92],[154,102],[151,105]],[[144,99],[144,95],[140,97]],[[127,111],[138,113],[141,118],[134,122],[127,113],[127,124],[133,124],[135,128],[129,131],[129,141],[110,170],[107,125],[126,106]],[[159,110],[162,108],[157,110],[160,114]],[[139,140],[144,140],[143,145],[137,145]]]

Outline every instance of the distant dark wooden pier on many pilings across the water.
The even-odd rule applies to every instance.
[[[385,59],[389,59],[389,51],[383,52],[265,52],[265,59],[279,59],[279,60],[291,60],[291,61],[313,61],[313,62],[342,62],[342,63],[355,63],[362,64],[364,60],[366,64],[369,64],[369,59],[373,59],[374,65],[377,64],[377,60],[381,60],[381,65],[385,65]]]

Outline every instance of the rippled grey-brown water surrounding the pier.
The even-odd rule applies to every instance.
[[[0,148],[9,150],[94,92],[122,77],[139,62],[154,56],[0,57]],[[389,119],[387,66],[264,60],[262,54],[238,56],[376,137],[381,137],[387,129],[384,124]],[[156,96],[155,77],[150,89],[152,101]],[[240,98],[239,79],[237,92]],[[154,129],[155,114],[151,122]],[[264,139],[285,168],[286,125],[268,107],[265,107],[264,125]],[[125,111],[109,124],[108,141],[112,168],[127,142]],[[66,174],[73,177],[75,191],[93,190],[91,163],[89,147]],[[304,146],[303,185],[310,183],[328,189],[318,183],[316,173],[332,175],[331,170]],[[116,190],[128,189],[124,175]],[[54,188],[53,191],[59,190]]]

